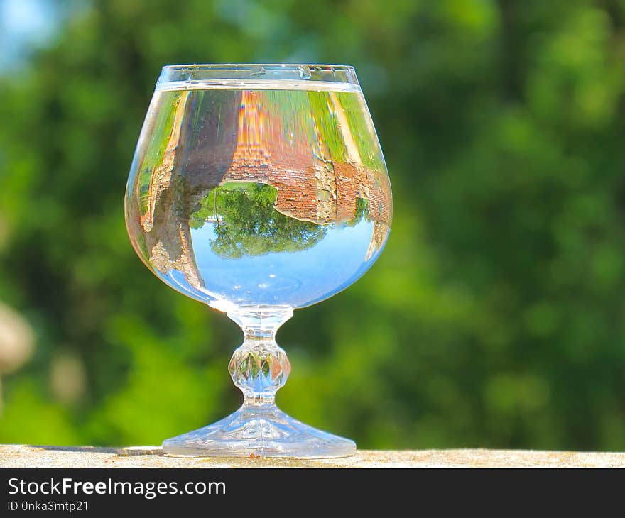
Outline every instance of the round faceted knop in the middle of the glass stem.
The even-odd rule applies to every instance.
[[[275,341],[246,341],[228,365],[234,385],[246,397],[273,396],[290,373],[286,353]]]

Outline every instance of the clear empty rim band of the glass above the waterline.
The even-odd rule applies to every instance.
[[[200,82],[301,82],[335,83],[359,87],[352,65],[325,63],[191,63],[164,65],[158,85]]]

